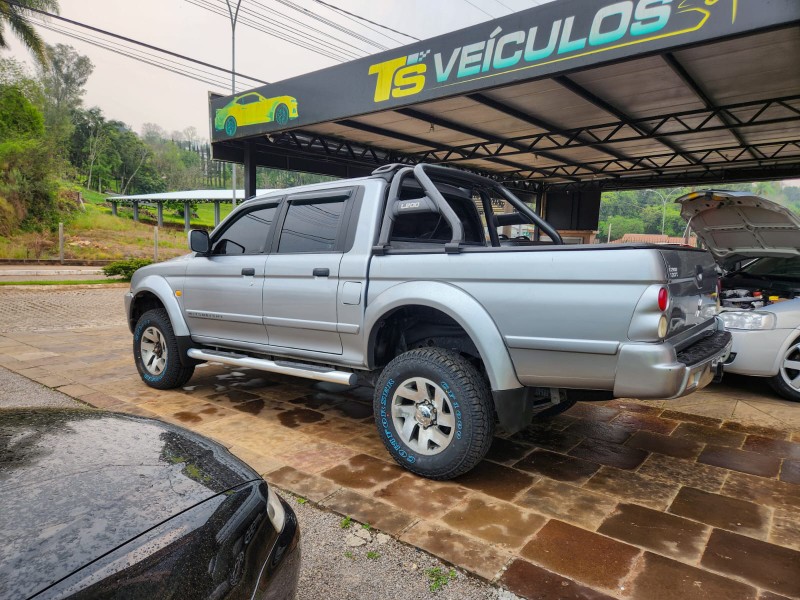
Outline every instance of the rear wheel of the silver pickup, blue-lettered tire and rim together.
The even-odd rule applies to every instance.
[[[452,479],[486,456],[494,411],[483,375],[459,354],[411,350],[392,360],[375,388],[375,423],[400,465]]]

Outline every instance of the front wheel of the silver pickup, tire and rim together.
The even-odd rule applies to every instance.
[[[142,381],[159,390],[180,387],[194,373],[194,365],[181,364],[178,340],[163,308],[139,318],[133,330],[133,357]]]

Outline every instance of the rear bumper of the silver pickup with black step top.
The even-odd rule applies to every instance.
[[[614,381],[617,398],[678,398],[704,388],[730,353],[728,331],[709,332],[680,351],[669,343],[625,344]]]

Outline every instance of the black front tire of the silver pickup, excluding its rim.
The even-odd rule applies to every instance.
[[[167,351],[166,365],[157,375],[148,371],[142,358],[142,337],[150,328],[161,333],[164,339],[164,347]],[[139,318],[136,328],[133,330],[133,358],[136,362],[136,370],[139,371],[142,381],[159,390],[171,390],[181,387],[189,381],[194,373],[194,365],[184,366],[181,363],[178,340],[172,330],[169,315],[163,308],[148,310]]]

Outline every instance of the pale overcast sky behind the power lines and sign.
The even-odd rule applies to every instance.
[[[193,1],[206,6],[217,6],[227,11],[225,0]],[[490,18],[486,13],[499,17],[511,12],[510,9],[523,10],[547,1],[550,0],[329,0],[329,3],[424,39],[486,21]],[[291,0],[291,2],[357,30],[373,40],[383,42],[388,47],[402,45],[355,25],[353,21],[313,0]],[[60,6],[63,17],[230,68],[229,19],[204,10],[188,0],[136,0],[135,2],[60,0]],[[305,31],[308,31],[307,24],[311,24],[370,54],[380,51],[342,32],[303,17],[298,11],[279,3],[279,0],[242,0],[241,15],[254,19],[248,10],[267,13],[267,9],[277,10],[290,19],[296,19],[295,26]],[[287,22],[281,21],[280,17],[274,14],[272,18],[273,22],[267,21],[267,23],[273,26]],[[137,132],[141,131],[142,124],[153,122],[168,132],[181,131],[192,126],[197,129],[201,137],[207,138],[208,91],[213,89],[229,93],[229,87],[211,86],[194,81],[97,48],[84,41],[44,29],[39,31],[49,44],[69,44],[94,63],[94,73],[86,86],[84,105],[99,106],[106,118],[124,121]],[[0,51],[0,56],[12,55],[32,66],[33,61],[27,50],[10,32],[7,33],[11,47],[10,50]],[[319,34],[313,32],[309,34],[317,39],[321,38]],[[397,34],[389,33],[389,35],[398,40],[412,42]],[[334,42],[328,39],[328,43]],[[336,45],[346,48],[343,44]],[[338,62],[275,39],[242,23],[237,26],[237,72],[274,82],[316,71]]]

